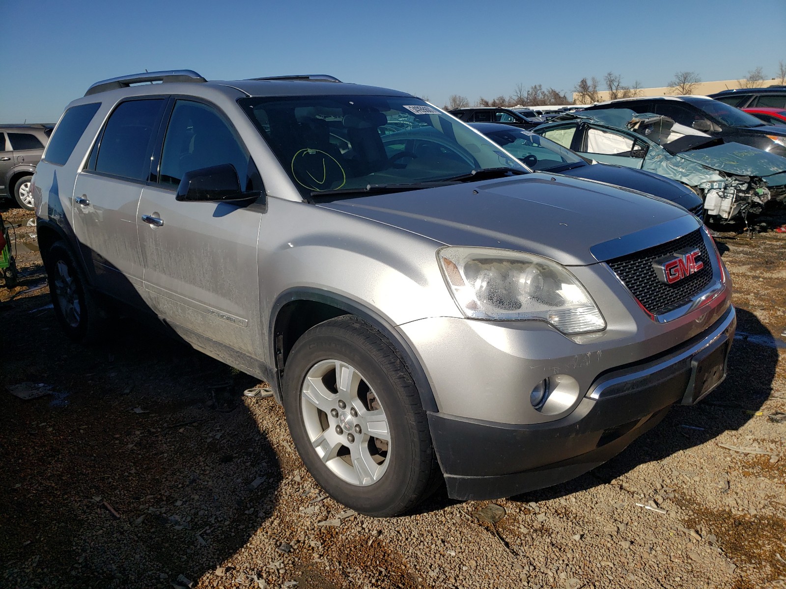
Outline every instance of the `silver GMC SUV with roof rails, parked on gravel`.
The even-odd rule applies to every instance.
[[[725,377],[731,283],[696,217],[533,173],[410,94],[97,82],[32,191],[70,337],[122,304],[270,382],[303,463],[363,514],[566,481]]]

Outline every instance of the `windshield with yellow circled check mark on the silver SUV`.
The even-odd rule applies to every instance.
[[[528,171],[465,123],[413,97],[254,97],[240,104],[303,196],[490,168]]]

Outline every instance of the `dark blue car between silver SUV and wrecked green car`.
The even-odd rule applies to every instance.
[[[515,155],[531,170],[631,188],[670,200],[700,219],[704,217],[704,204],[696,192],[660,174],[611,163],[593,163],[550,139],[509,125],[470,123],[469,126]]]

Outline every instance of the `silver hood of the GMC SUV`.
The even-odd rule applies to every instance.
[[[318,206],[446,245],[527,251],[564,265],[593,264],[598,261],[589,251],[594,245],[674,219],[687,217],[693,229],[699,226],[685,210],[660,199],[558,174],[527,174]],[[663,243],[659,236],[652,239],[638,249]]]

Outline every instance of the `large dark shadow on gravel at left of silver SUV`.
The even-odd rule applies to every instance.
[[[20,285],[43,280],[28,267]],[[252,413],[274,401],[241,393],[259,381],[137,318],[113,321],[101,345],[77,345],[46,289],[10,302],[8,292],[0,584],[186,586],[244,547],[281,482]],[[19,386],[46,394],[22,400]]]

